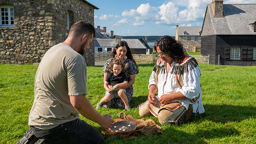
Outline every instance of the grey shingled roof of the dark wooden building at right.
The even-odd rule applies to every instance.
[[[256,4],[223,4],[223,18],[214,18],[209,4],[206,8],[206,14],[210,14],[212,23],[210,29],[213,29],[216,35],[256,34],[249,26],[249,23],[252,23],[256,18]]]

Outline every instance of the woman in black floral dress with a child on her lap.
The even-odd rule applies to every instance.
[[[104,82],[105,82],[108,74],[110,74],[110,71],[109,71],[110,63],[114,59],[121,60],[125,65],[125,69],[126,69],[125,74],[126,74],[126,77],[128,78],[128,84],[125,87],[117,87],[117,90],[125,89],[128,102],[130,103],[130,100],[132,99],[132,94],[133,94],[132,84],[134,84],[134,82],[135,82],[135,77],[136,77],[136,74],[139,73],[139,69],[138,69],[138,66],[136,65],[136,62],[132,58],[132,52],[131,52],[127,42],[126,41],[118,42],[115,49],[113,49],[113,52],[111,53],[110,57],[111,58],[109,58],[106,61],[105,65],[103,66],[103,70],[102,70],[104,72]],[[108,86],[110,89],[112,88],[112,86],[110,86],[110,85],[108,85]],[[104,96],[106,96],[106,92],[105,92]],[[124,102],[122,101],[121,98],[113,98],[109,102],[104,103],[103,107],[105,107],[105,108],[111,108],[111,107],[123,108]]]

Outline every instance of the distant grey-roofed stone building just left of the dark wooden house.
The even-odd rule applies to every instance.
[[[176,25],[175,39],[182,42],[185,52],[192,52],[193,47],[201,48],[202,26],[178,26]]]

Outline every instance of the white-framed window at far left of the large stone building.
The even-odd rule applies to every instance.
[[[2,21],[7,21],[7,20],[2,20],[2,8],[7,8],[7,13],[8,13],[8,24],[2,24]],[[11,8],[12,8],[12,15],[11,15]],[[7,17],[5,16],[5,17]],[[13,17],[13,24],[11,24],[11,17]],[[14,27],[14,6],[12,5],[2,5],[0,6],[0,28],[13,28]]]

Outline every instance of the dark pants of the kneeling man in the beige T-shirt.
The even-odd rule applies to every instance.
[[[50,144],[104,144],[104,138],[90,124],[76,119],[60,124],[50,130],[42,130],[31,126],[36,137],[43,138]]]

